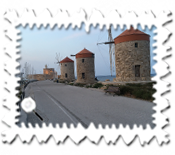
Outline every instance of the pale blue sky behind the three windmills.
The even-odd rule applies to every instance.
[[[65,57],[69,57],[74,60],[75,76],[76,76],[76,59],[70,55],[77,54],[84,48],[91,51],[95,54],[95,76],[106,76],[111,75],[110,72],[110,59],[109,59],[109,45],[99,44],[100,42],[108,41],[108,32],[104,26],[102,30],[98,26],[91,26],[89,33],[85,31],[85,25],[82,24],[81,29],[75,28],[72,29],[69,26],[67,29],[64,27],[58,28],[54,27],[51,29],[49,26],[44,28],[43,26],[38,29],[34,26],[30,29],[28,26],[22,27],[18,26],[17,29],[21,31],[21,71],[23,71],[24,65],[27,62],[30,64],[36,74],[43,74],[43,68],[47,64],[48,68],[54,68],[55,71],[60,74],[58,64],[56,63],[56,53],[60,55],[60,60]],[[156,29],[155,26],[152,26],[151,30],[147,27],[145,30],[141,28],[140,25],[137,27],[139,30],[150,35],[150,64],[151,64],[151,74],[155,74],[152,66],[156,63],[153,60],[153,46],[155,42],[153,37],[155,34],[153,31]],[[117,29],[114,29],[111,26],[112,37],[113,39],[120,35],[127,28],[120,29],[118,26]],[[114,59],[113,59],[114,60]],[[115,75],[115,65],[113,67],[112,75]]]

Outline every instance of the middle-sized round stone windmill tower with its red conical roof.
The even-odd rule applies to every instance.
[[[77,80],[76,83],[95,83],[94,53],[83,49],[76,54]]]

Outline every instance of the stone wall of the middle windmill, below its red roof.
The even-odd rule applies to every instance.
[[[84,62],[82,62],[84,59]],[[77,83],[94,83],[95,69],[94,58],[77,58]],[[85,78],[82,78],[82,73],[85,73]]]

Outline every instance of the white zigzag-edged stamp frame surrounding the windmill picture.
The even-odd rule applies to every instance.
[[[4,87],[10,90],[10,93],[6,94],[2,92],[1,99],[5,99],[6,102],[1,103],[1,105],[5,105],[10,111],[1,110],[0,119],[6,122],[10,128],[0,128],[0,133],[5,135],[5,137],[2,138],[2,141],[10,143],[17,135],[22,142],[26,141],[27,143],[31,141],[33,135],[35,135],[39,143],[46,141],[50,135],[53,136],[55,143],[58,143],[59,141],[63,142],[67,136],[69,136],[69,138],[71,138],[75,143],[78,143],[85,136],[95,143],[99,141],[101,136],[104,137],[106,143],[109,143],[110,141],[114,143],[119,136],[122,136],[125,143],[130,143],[136,135],[139,137],[140,144],[149,142],[153,137],[156,138],[159,144],[162,142],[166,143],[169,140],[168,131],[162,129],[168,124],[168,116],[161,112],[168,107],[167,99],[161,96],[163,92],[168,90],[168,83],[165,80],[161,80],[160,77],[168,73],[168,65],[162,58],[168,55],[166,51],[169,46],[163,45],[163,42],[165,41],[166,36],[170,34],[170,31],[166,27],[163,27],[163,24],[170,20],[170,17],[168,17],[170,12],[161,10],[156,17],[151,10],[148,10],[147,13],[141,11],[139,16],[137,16],[134,12],[125,11],[125,13],[122,14],[122,17],[120,17],[120,14],[115,10],[111,10],[105,17],[103,17],[102,13],[97,9],[93,9],[91,12],[89,19],[87,20],[85,19],[85,12],[83,9],[72,13],[71,16],[67,13],[67,11],[61,12],[59,9],[55,9],[54,16],[51,16],[48,9],[45,9],[42,13],[37,13],[36,16],[33,10],[27,11],[26,8],[23,8],[23,11],[20,13],[20,17],[18,17],[15,9],[12,9],[11,11],[7,10],[7,14],[4,17],[10,19],[11,24],[4,26],[2,29],[8,28],[7,35],[12,38],[12,41],[8,42],[3,40],[3,48],[6,48],[5,53],[9,53],[11,58],[6,59],[3,57],[2,63],[6,65],[3,68],[5,68],[11,76],[6,76],[3,73],[1,73],[1,76],[3,77],[3,82],[6,82]],[[117,20],[114,21],[111,16],[115,17]],[[146,18],[149,20],[145,20]],[[59,125],[56,125],[54,128],[51,124],[49,126],[43,124],[42,128],[39,126],[34,128],[29,124],[30,127],[27,128],[23,124],[22,128],[20,128],[15,124],[18,121],[16,117],[20,115],[20,113],[16,111],[18,109],[16,103],[19,99],[15,96],[17,94],[15,87],[18,86],[17,81],[19,80],[19,78],[15,77],[15,74],[19,73],[19,70],[17,70],[16,67],[20,65],[16,61],[16,59],[20,58],[20,51],[16,48],[20,45],[20,43],[16,40],[20,39],[20,36],[17,35],[19,31],[15,27],[19,24],[22,24],[23,26],[29,24],[30,27],[32,27],[33,24],[36,24],[37,27],[40,27],[41,24],[44,26],[50,24],[50,28],[52,28],[55,24],[57,24],[58,27],[64,25],[66,28],[71,24],[72,28],[75,26],[80,28],[82,22],[86,25],[86,31],[89,30],[91,24],[93,26],[99,24],[100,28],[102,28],[103,25],[106,25],[108,28],[110,24],[113,24],[114,28],[116,28],[119,23],[120,25],[125,24],[127,28],[131,24],[135,28],[139,23],[142,28],[144,28],[145,25],[147,25],[148,28],[151,28],[152,25],[156,26],[154,33],[157,33],[157,35],[154,39],[157,40],[157,42],[154,43],[154,46],[157,46],[157,48],[154,50],[154,53],[156,53],[154,60],[156,60],[157,63],[153,68],[155,69],[157,75],[152,78],[153,81],[157,82],[157,84],[154,85],[154,88],[157,90],[154,94],[154,103],[156,105],[153,108],[155,110],[155,113],[153,114],[153,123],[156,124],[155,128],[151,129],[150,126],[147,125],[146,129],[143,129],[142,126],[137,127],[134,125],[134,128],[130,129],[129,126],[124,127],[122,124],[120,124],[118,129],[114,125],[111,128],[109,128],[109,126],[102,128],[102,126],[99,125],[97,129],[93,124],[91,124],[88,129],[84,129],[81,124],[78,124],[77,128],[73,125],[70,128],[67,128],[66,124],[63,124],[62,128],[60,128]]]

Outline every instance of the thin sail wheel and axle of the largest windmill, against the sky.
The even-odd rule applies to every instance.
[[[113,56],[115,54],[115,48],[114,48],[115,46],[114,46],[114,40],[113,40],[112,33],[111,33],[111,27],[108,29],[108,42],[97,43],[97,45],[99,44],[109,45],[110,71],[111,71],[111,76],[112,76],[112,69],[114,67]]]

